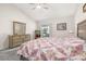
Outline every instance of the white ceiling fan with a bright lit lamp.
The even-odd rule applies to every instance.
[[[29,5],[32,5],[32,10],[38,10],[38,9],[45,9],[48,10],[49,9],[49,4],[47,3],[28,3]]]

